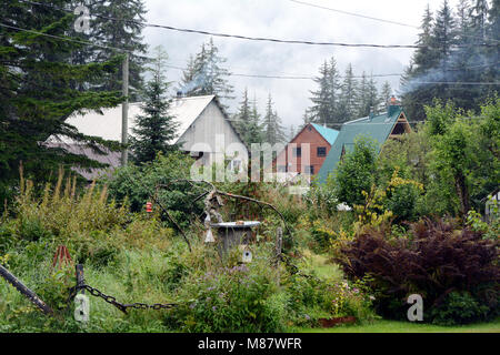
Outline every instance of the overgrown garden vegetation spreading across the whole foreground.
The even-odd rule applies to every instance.
[[[278,183],[217,183],[220,191],[266,201],[280,212],[222,201],[224,221],[261,222],[251,235],[250,264],[242,263],[239,248],[222,253],[217,243],[204,243],[203,199],[191,203],[202,184],[183,180],[192,160],[180,152],[119,169],[86,189],[62,170],[56,184],[36,189],[21,169],[17,199],[1,217],[0,263],[57,317],[43,316],[2,280],[0,329],[279,332],[347,316],[358,324],[380,316],[404,320],[407,298],[416,293],[423,297],[427,323],[494,320],[499,210],[489,195],[499,179],[499,105],[491,101],[466,121],[437,102],[422,126],[388,142],[380,155],[359,140],[329,183],[304,196],[287,194]],[[456,134],[460,144],[450,150],[443,142]],[[488,152],[473,155],[478,150]],[[144,211],[151,196],[184,231],[191,251],[158,203]],[[339,202],[352,209],[339,210]],[[61,245],[72,260],[53,266]],[[177,306],[123,314],[91,297],[91,322],[83,327],[64,311],[74,263],[84,264],[89,285],[119,302]]]

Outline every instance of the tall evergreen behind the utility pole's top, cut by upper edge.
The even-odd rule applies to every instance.
[[[143,88],[143,68],[148,45],[143,43],[142,30],[147,12],[143,0],[92,0],[90,6],[90,40],[106,43],[108,47],[128,50],[129,54],[129,95],[131,101],[139,100]],[[123,20],[122,22],[109,18]],[[114,50],[100,48],[96,59],[106,61],[116,55]],[[88,58],[92,60],[93,57]],[[121,91],[122,72],[119,68],[116,75],[99,89],[104,91]]]

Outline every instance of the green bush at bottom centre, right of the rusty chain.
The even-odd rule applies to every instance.
[[[239,265],[190,277],[181,303],[167,324],[184,332],[279,332],[283,307],[273,297],[272,273],[259,265]]]

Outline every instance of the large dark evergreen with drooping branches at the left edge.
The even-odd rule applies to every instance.
[[[63,0],[52,3],[60,8],[70,4]],[[0,30],[0,194],[6,196],[12,191],[8,186],[16,183],[21,161],[26,174],[38,181],[47,181],[61,164],[66,169],[103,166],[70,153],[66,145],[43,142],[49,136],[67,136],[97,153],[103,153],[103,145],[119,149],[118,143],[83,135],[64,121],[74,112],[110,108],[122,101],[114,92],[81,90],[108,82],[122,58],[72,64],[73,53],[84,44],[56,37],[64,37],[72,28],[73,14],[61,17],[59,10],[17,0],[4,1],[2,13],[2,22],[8,26],[54,37]]]

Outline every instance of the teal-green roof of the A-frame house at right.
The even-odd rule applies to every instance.
[[[378,152],[380,152],[382,144],[389,138],[401,114],[404,114],[403,109],[399,105],[392,105],[389,106],[388,112],[343,123],[323,165],[321,165],[317,181],[320,183],[327,181],[328,175],[336,170],[340,162],[342,151],[344,153],[351,152],[354,148],[354,140],[359,135],[373,139],[377,142]]]

